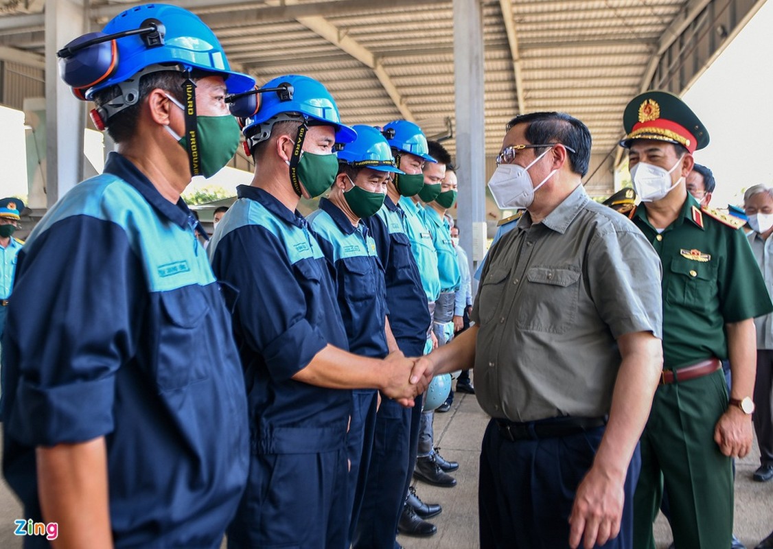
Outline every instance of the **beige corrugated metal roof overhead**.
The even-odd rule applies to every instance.
[[[622,110],[649,84],[648,65],[662,52],[663,37],[711,2],[482,0],[485,83],[479,85],[485,91],[486,155],[499,152],[504,125],[519,112],[567,111],[591,129],[591,170],[594,162],[609,162],[621,137]],[[17,9],[3,11],[3,3]],[[44,3],[28,2],[27,12],[40,12]],[[455,126],[451,0],[172,3],[199,13],[232,63],[253,73],[259,83],[286,73],[321,80],[349,124],[382,125],[403,118],[402,109],[427,133],[447,134],[449,120]],[[42,25],[31,24],[29,16],[19,19],[19,26],[3,24],[3,19],[19,15],[18,5],[0,2],[0,46],[42,54]],[[131,2],[92,0],[90,5],[99,28]],[[514,24],[512,36],[505,18]],[[376,67],[383,73],[377,74]],[[455,152],[453,137],[444,145]],[[590,190],[609,193],[611,182],[609,170],[600,170]]]

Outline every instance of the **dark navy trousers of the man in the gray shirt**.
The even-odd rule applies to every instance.
[[[511,442],[489,421],[483,437],[478,486],[481,549],[569,547],[574,495],[591,468],[604,427],[560,438]],[[620,534],[602,547],[632,547],[633,494],[638,448],[625,479]]]

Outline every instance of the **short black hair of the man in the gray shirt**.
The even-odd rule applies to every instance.
[[[591,161],[591,131],[581,121],[563,112],[533,112],[519,114],[507,123],[506,131],[517,124],[527,124],[526,139],[532,144],[560,143],[574,149],[567,149],[572,172],[584,177]],[[535,154],[543,151],[536,149]]]

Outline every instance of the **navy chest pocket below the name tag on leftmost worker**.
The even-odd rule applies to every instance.
[[[205,379],[209,361],[214,359],[211,350],[201,347],[201,330],[206,329],[204,318],[209,307],[203,295],[186,289],[159,295],[162,315],[155,378],[162,391],[182,389]]]

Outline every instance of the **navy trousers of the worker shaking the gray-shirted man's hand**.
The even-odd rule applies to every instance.
[[[228,549],[346,547],[346,448],[250,456],[247,489],[227,530]]]

